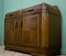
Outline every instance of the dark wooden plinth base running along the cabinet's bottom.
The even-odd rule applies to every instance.
[[[31,54],[32,56],[57,56],[58,51],[48,51],[48,49],[40,49],[40,48],[31,48],[31,47],[18,47],[18,46],[11,46],[11,45],[6,45],[4,47],[6,51],[14,51],[14,52],[21,52],[21,53],[26,53]],[[56,54],[56,55],[53,55]]]

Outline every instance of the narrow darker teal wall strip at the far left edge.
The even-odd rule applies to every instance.
[[[0,0],[0,44],[3,44],[3,0]]]

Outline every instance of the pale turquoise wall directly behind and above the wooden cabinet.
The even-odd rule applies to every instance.
[[[56,4],[58,5],[62,12],[62,16],[63,16],[62,19],[62,53],[66,54],[66,3],[65,3],[66,0],[4,0],[4,14],[11,11],[28,8],[42,2]]]

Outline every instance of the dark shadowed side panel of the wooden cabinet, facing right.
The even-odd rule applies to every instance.
[[[48,13],[50,15],[50,48],[54,53],[58,53],[62,45],[62,25],[61,25],[61,15],[56,13]]]

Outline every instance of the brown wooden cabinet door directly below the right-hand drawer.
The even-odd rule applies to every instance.
[[[40,14],[23,16],[22,46],[40,47]]]

